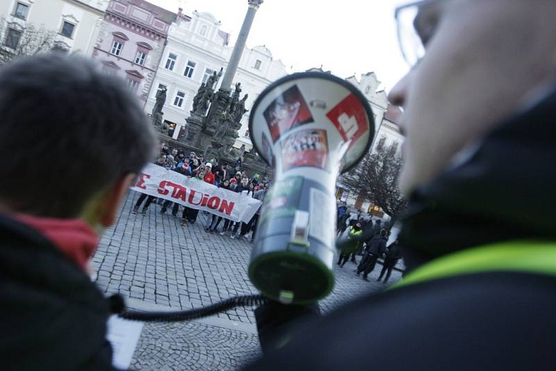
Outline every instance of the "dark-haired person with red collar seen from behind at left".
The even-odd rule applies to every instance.
[[[112,370],[111,305],[89,263],[156,156],[152,125],[124,81],[79,56],[19,58],[0,86],[2,368]]]

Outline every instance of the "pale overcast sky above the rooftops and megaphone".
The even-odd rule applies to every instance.
[[[247,0],[149,0],[177,13],[179,6],[212,13],[234,44]],[[247,47],[265,44],[288,72],[310,67],[341,77],[374,71],[389,91],[407,72],[395,34],[395,6],[407,0],[265,0]],[[289,67],[293,66],[293,69]]]

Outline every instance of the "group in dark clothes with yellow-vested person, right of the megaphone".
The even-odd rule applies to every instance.
[[[358,276],[363,272],[363,279],[368,281],[368,275],[375,270],[378,259],[383,258],[382,271],[377,281],[382,281],[384,277],[384,283],[386,283],[393,268],[402,257],[398,240],[394,240],[389,246],[386,246],[390,230],[382,224],[381,219],[373,222],[370,216],[363,216],[361,211],[350,213],[347,206],[339,201],[336,212],[336,233],[347,240],[342,245],[338,265],[343,267],[350,257],[352,263],[357,264],[356,256],[360,255],[361,261],[355,272]]]

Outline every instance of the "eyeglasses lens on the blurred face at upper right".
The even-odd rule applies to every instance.
[[[395,9],[398,44],[402,56],[414,67],[425,56],[427,42],[439,22],[440,3],[445,0],[422,0]]]

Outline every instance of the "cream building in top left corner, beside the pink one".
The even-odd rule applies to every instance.
[[[108,0],[2,0],[6,19],[3,47],[15,43],[26,24],[55,31],[56,47],[90,56],[97,42]]]

